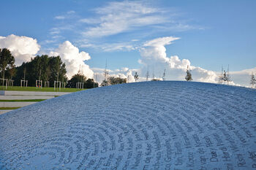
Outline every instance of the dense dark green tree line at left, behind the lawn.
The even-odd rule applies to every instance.
[[[37,55],[31,61],[23,62],[21,66],[15,66],[15,58],[7,48],[0,48],[0,67],[2,79],[14,80],[13,85],[20,85],[20,80],[28,80],[28,86],[35,86],[36,80],[49,82],[53,87],[54,81],[65,83],[67,88],[75,88],[74,81],[80,81],[77,77],[83,77],[83,88],[98,87],[93,79],[87,79],[81,72],[67,79],[66,64],[60,56]],[[94,86],[92,86],[94,84]]]

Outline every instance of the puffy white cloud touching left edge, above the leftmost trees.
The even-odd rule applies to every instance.
[[[37,39],[28,36],[0,36],[0,48],[8,48],[15,57],[15,65],[20,66],[23,62],[30,61],[38,53],[40,45]]]

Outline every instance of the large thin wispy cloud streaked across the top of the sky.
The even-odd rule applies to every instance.
[[[80,22],[97,25],[84,31],[86,36],[109,36],[133,28],[170,22],[170,18],[161,15],[161,11],[140,1],[115,1],[95,9],[98,18],[85,18]]]

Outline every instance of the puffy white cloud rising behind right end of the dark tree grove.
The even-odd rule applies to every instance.
[[[59,47],[50,52],[50,55],[60,55],[61,60],[66,63],[67,77],[70,79],[72,75],[77,74],[79,69],[86,75],[86,77],[94,77],[94,72],[89,65],[84,63],[91,58],[89,53],[84,51],[79,52],[78,47],[75,47],[71,42],[66,41],[59,45]]]

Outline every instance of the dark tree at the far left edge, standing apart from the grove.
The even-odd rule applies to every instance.
[[[12,53],[7,48],[0,48],[0,67],[2,78],[4,79],[4,74],[6,69],[12,69],[15,67],[15,58],[12,56]],[[4,85],[4,81],[3,81]]]

